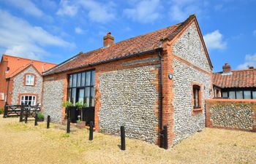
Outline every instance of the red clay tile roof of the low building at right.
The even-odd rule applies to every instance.
[[[231,74],[217,72],[213,74],[213,83],[217,87],[256,87],[256,69],[231,71]]]

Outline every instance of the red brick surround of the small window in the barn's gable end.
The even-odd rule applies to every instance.
[[[199,90],[199,106],[200,108],[194,108],[194,92],[193,92],[193,87],[194,85],[197,85],[200,87],[200,90]],[[202,100],[203,100],[203,96],[202,96],[202,93],[203,93],[203,85],[198,83],[198,82],[192,82],[191,83],[191,96],[192,96],[192,116],[195,116],[196,114],[202,114],[203,113],[203,104],[202,104]]]

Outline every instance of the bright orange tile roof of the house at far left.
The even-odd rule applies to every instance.
[[[35,69],[39,72],[39,74],[42,75],[43,71],[47,71],[53,66],[56,66],[56,64],[53,63],[46,63],[43,61],[38,60],[31,60],[28,58],[20,58],[16,56],[11,55],[2,55],[1,60],[8,60],[8,67],[10,68],[7,78],[13,77],[16,74],[18,74],[20,71],[23,71],[23,69],[26,69],[28,66],[33,65]]]

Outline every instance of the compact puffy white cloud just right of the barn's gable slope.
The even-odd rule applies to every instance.
[[[204,35],[203,39],[206,42],[208,50],[223,50],[227,47],[227,42],[223,40],[223,36],[219,30]]]

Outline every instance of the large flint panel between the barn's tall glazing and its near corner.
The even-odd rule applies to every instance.
[[[154,81],[159,66],[143,66],[99,74],[99,129],[154,143],[157,139],[157,99]]]

